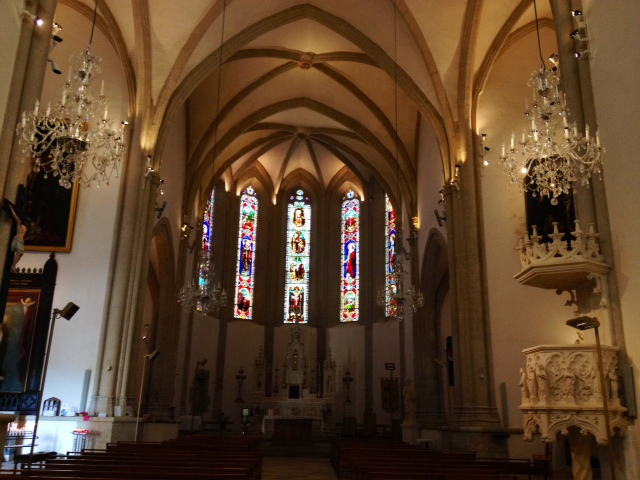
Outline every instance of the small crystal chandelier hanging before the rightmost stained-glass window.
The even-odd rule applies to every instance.
[[[393,255],[393,272],[387,289],[378,292],[376,303],[385,309],[391,305],[391,316],[399,321],[404,320],[405,314],[411,311],[415,314],[424,305],[422,292],[411,283],[411,272],[405,263],[409,260],[409,252],[402,246],[402,235],[398,232],[399,251]]]

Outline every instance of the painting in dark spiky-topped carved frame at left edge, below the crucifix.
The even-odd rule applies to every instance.
[[[0,410],[34,414],[38,406],[58,266],[12,273],[0,331]]]

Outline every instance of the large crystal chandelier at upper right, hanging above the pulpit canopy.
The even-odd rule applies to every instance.
[[[597,131],[595,138],[590,137],[589,126],[585,125],[583,136],[576,123],[569,122],[566,98],[558,89],[558,57],[552,55],[549,60],[555,67],[547,70],[540,54],[541,67],[527,82],[533,90],[533,103],[531,107],[525,103],[522,138],[516,141],[512,133],[510,146],[502,145],[499,158],[511,183],[523,191],[530,190],[534,197],[546,195],[552,205],[557,205],[558,197],[569,193],[572,183],[589,185],[591,175],[600,174],[604,148]]]

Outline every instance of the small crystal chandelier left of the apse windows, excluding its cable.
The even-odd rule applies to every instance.
[[[211,250],[201,250],[198,261],[196,280],[185,289],[181,288],[178,301],[188,306],[194,313],[218,315],[220,307],[227,305],[227,292],[214,284],[215,269],[211,258]]]

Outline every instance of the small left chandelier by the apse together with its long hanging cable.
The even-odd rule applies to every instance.
[[[218,147],[218,115],[220,114],[220,87],[222,80],[222,49],[224,45],[224,25],[227,11],[227,2],[222,7],[222,27],[220,31],[220,60],[218,63],[218,86],[216,95],[216,118],[213,129],[213,149]],[[214,188],[214,168],[211,165],[211,188]],[[212,225],[209,228],[213,228]],[[178,301],[184,306],[189,306],[192,312],[203,315],[218,315],[220,308],[227,305],[227,292],[222,288],[220,282],[215,283],[215,265],[213,263],[213,253],[211,248],[202,248],[199,253],[198,265],[194,272],[198,279],[191,281],[189,287],[182,288],[178,295]]]

